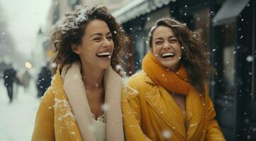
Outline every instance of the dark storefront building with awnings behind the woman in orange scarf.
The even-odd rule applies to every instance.
[[[113,12],[130,36],[126,70],[140,70],[148,32],[163,17],[198,30],[218,75],[210,85],[227,140],[256,140],[255,0],[133,0]]]

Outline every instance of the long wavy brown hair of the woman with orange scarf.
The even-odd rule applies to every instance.
[[[174,18],[161,18],[157,20],[150,30],[150,48],[152,48],[152,35],[159,26],[166,26],[172,29],[182,47],[181,61],[187,69],[191,85],[199,92],[204,93],[204,83],[210,79],[211,74],[216,70],[209,63],[210,53],[201,42],[199,33],[189,30],[185,23],[181,23]]]

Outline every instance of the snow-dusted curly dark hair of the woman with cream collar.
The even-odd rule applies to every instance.
[[[75,54],[71,46],[82,43],[84,29],[89,21],[99,19],[106,22],[113,37],[114,49],[111,56],[111,66],[119,74],[122,66],[121,50],[128,44],[128,37],[121,24],[107,11],[105,6],[86,6],[74,13],[67,13],[65,20],[52,30],[51,41],[55,47],[55,56],[52,61],[62,68],[65,64],[79,61],[79,56]]]

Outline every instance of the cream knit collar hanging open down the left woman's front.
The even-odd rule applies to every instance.
[[[62,79],[62,80],[61,80]],[[57,68],[55,80],[52,85],[62,86],[72,107],[76,118],[79,132],[83,140],[96,140],[91,130],[92,118],[86,92],[80,73],[80,64],[72,63],[62,68],[60,78],[60,68]],[[111,67],[104,71],[105,103],[108,109],[105,112],[106,140],[124,140],[123,121],[121,113],[121,77],[113,71]],[[115,86],[115,87],[113,87]]]

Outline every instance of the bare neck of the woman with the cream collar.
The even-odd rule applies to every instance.
[[[86,90],[101,89],[103,87],[103,77],[104,69],[82,64],[82,78]]]

